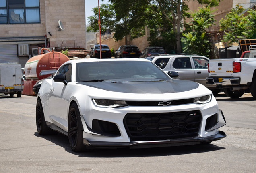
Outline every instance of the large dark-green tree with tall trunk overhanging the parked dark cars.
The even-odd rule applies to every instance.
[[[173,38],[174,35],[175,39],[171,42],[174,43],[175,49],[180,53],[182,20],[190,16],[187,12],[189,10],[186,4],[188,1],[190,0],[109,0],[111,4],[109,10],[114,15],[114,24],[111,25],[111,29],[115,32],[114,38],[121,40],[125,37],[127,44],[129,40],[127,38],[130,38],[133,32],[149,26],[149,28],[152,27],[151,33],[153,33],[151,40],[156,40],[159,34],[162,38],[166,35],[168,38]],[[220,0],[193,1],[213,7],[217,6]],[[94,16],[98,16],[96,12],[94,14]],[[90,24],[96,25],[97,23],[90,22]],[[103,22],[101,24],[104,25]]]

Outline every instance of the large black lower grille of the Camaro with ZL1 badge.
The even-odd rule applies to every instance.
[[[124,126],[131,141],[165,140],[198,135],[200,111],[128,113]]]

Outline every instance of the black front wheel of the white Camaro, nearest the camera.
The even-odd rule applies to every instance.
[[[68,141],[74,152],[86,150],[83,144],[83,125],[80,119],[80,113],[76,103],[72,103],[68,113]]]

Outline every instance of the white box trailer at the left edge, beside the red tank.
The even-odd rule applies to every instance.
[[[21,72],[21,64],[0,63],[0,93],[10,94],[13,97],[21,97],[24,82]]]

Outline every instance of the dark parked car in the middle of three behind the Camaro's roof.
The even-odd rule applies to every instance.
[[[122,45],[116,50],[115,58],[139,58],[140,57],[140,50],[135,45]]]

